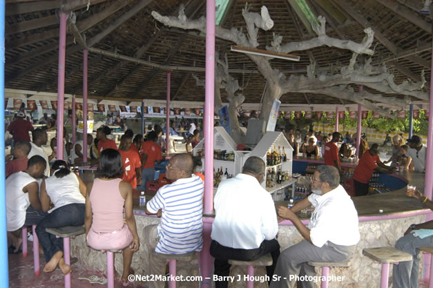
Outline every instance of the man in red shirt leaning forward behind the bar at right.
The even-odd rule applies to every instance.
[[[365,151],[358,162],[354,172],[355,195],[364,196],[368,193],[370,179],[372,179],[373,171],[392,173],[395,169],[386,166],[379,159],[379,145],[373,144],[372,148]]]

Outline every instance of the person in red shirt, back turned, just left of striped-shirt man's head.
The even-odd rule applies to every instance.
[[[164,160],[160,145],[155,143],[157,140],[157,133],[151,131],[147,135],[147,141],[142,144],[142,150],[140,151],[143,164],[142,186],[137,186],[137,189],[142,191],[146,189],[146,182],[155,178],[155,161],[161,163]]]

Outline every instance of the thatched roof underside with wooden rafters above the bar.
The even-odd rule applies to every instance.
[[[6,0],[6,88],[57,91],[57,59],[59,40],[59,8],[70,10],[77,30],[86,43],[99,50],[149,61],[165,66],[204,68],[205,35],[195,31],[169,28],[155,21],[153,10],[161,15],[177,16],[181,3],[191,19],[204,16],[204,0],[68,0],[64,1]],[[421,0],[306,0],[314,15],[327,19],[327,35],[360,43],[365,27],[372,27],[375,39],[372,64],[386,63],[394,70],[396,82],[419,81],[421,70],[430,83],[432,47],[432,17],[421,15]],[[87,7],[87,4],[90,6]],[[251,12],[260,13],[267,6],[274,26],[259,30],[258,48],[264,49],[273,41],[273,33],[282,35],[282,43],[316,37],[305,24],[294,5],[296,0],[230,0],[222,20],[224,28],[245,27],[242,8],[251,5]],[[69,23],[69,22],[68,22]],[[68,25],[66,39],[65,92],[82,93],[83,53]],[[231,73],[244,89],[246,103],[258,103],[266,83],[256,64],[246,55],[231,52],[228,41],[216,39],[216,50],[227,52]],[[271,60],[286,77],[306,75],[310,60],[323,70],[347,65],[352,52],[320,47],[294,52],[300,61]],[[365,57],[365,56],[363,56]],[[365,57],[366,58],[366,57]],[[359,57],[358,57],[359,59]],[[88,95],[96,99],[165,99],[166,70],[152,68],[107,55],[89,53]],[[173,70],[171,97],[182,101],[204,101],[204,88],[197,86],[193,75],[204,79],[204,72]],[[430,88],[430,84],[426,85]],[[427,89],[425,88],[425,89]],[[357,90],[358,87],[354,86]],[[367,88],[371,93],[377,93]],[[396,96],[385,95],[387,97]],[[403,97],[403,96],[401,96]],[[225,99],[222,91],[222,100]],[[327,95],[287,93],[280,98],[283,104],[349,104],[347,100]],[[412,100],[415,100],[412,98]]]

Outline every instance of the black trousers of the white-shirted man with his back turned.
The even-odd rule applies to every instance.
[[[280,244],[278,244],[276,239],[273,239],[264,240],[257,249],[234,249],[222,246],[220,243],[212,240],[210,252],[211,256],[215,258],[213,262],[213,274],[218,276],[229,276],[231,267],[229,260],[257,260],[267,253],[271,253],[272,265],[266,267],[266,272],[269,279],[272,279],[273,270],[275,270],[278,256],[280,256]],[[228,281],[215,281],[215,288],[227,288],[228,286]]]

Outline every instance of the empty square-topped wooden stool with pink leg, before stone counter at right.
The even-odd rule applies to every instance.
[[[394,247],[378,247],[363,249],[363,255],[382,264],[381,288],[388,287],[389,263],[412,261],[410,253]]]

